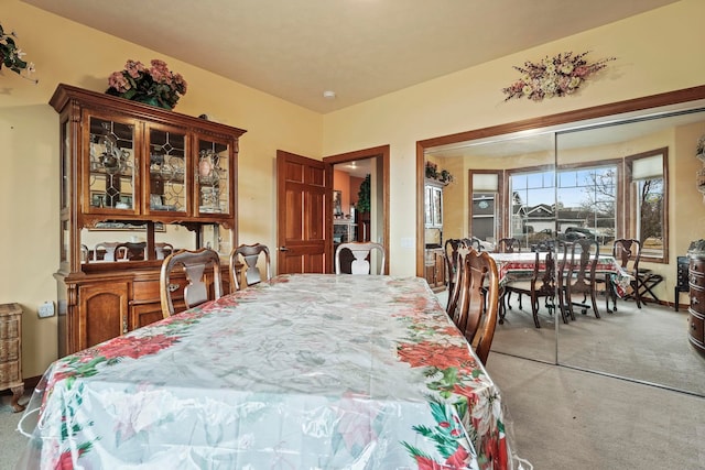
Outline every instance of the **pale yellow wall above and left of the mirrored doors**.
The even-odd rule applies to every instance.
[[[403,248],[401,241],[416,233],[409,201],[415,199],[417,141],[703,85],[702,18],[704,1],[683,0],[326,114],[326,155],[390,145],[391,274],[415,273],[415,249]],[[617,61],[576,95],[542,102],[503,101],[501,88],[518,77],[512,66],[566,51],[592,51],[592,59]]]

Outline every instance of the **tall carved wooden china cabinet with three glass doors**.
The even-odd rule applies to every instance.
[[[61,130],[59,357],[162,318],[165,245],[217,249],[228,292],[246,131],[67,85],[50,105]],[[141,255],[122,258],[133,233]],[[174,283],[175,298],[184,284]]]

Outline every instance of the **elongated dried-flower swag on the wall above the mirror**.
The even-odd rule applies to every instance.
[[[585,59],[588,52],[575,55],[572,52],[565,52],[554,57],[546,56],[536,64],[527,61],[523,67],[514,66],[521,72],[522,77],[507,88],[502,88],[502,92],[507,95],[505,101],[523,97],[541,101],[544,98],[571,95],[587,77],[605,68],[608,62],[616,59],[616,57],[608,57],[590,64]]]

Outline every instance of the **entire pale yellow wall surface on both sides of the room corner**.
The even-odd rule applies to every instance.
[[[698,58],[705,43],[701,0],[683,0],[326,116],[18,0],[1,1],[3,28],[18,31],[41,80],[33,86],[12,73],[0,75],[0,302],[19,302],[25,309],[25,376],[41,374],[56,357],[56,317],[39,320],[36,308],[56,298],[52,273],[58,263],[58,127],[47,102],[58,83],[102,90],[107,76],[126,59],[163,58],[188,81],[177,112],[205,112],[247,129],[238,182],[239,240],[247,243],[275,244],[276,149],[319,157],[389,144],[389,265],[391,274],[400,275],[415,273],[414,249],[402,248],[401,241],[416,233],[416,141],[705,83],[705,61]],[[594,51],[595,59],[614,55],[618,61],[575,96],[540,103],[502,101],[500,89],[517,77],[512,66],[564,51]]]

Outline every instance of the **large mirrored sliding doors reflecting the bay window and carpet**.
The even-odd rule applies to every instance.
[[[589,296],[574,295],[584,305],[564,321],[558,305],[541,299],[534,316],[513,294],[492,351],[705,396],[705,357],[688,343],[690,298],[677,288],[679,261],[705,239],[703,135],[697,87],[420,142],[419,187],[430,184],[426,163],[453,182],[443,186],[443,223],[419,228],[417,272],[429,277],[430,251],[449,238],[476,237],[491,250],[511,237],[523,252],[553,250],[556,259],[562,241],[596,240],[600,263],[615,240],[638,239],[651,278],[640,308],[629,287],[616,300],[606,295],[607,273],[597,284],[599,318]]]

